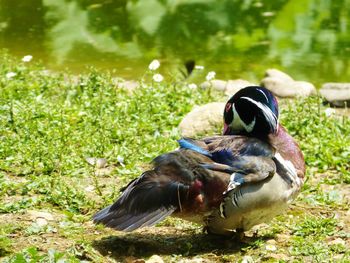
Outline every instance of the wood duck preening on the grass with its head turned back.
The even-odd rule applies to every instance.
[[[222,136],[179,140],[94,222],[132,231],[173,215],[232,235],[281,214],[300,191],[305,164],[278,114],[267,89],[240,90],[225,106]]]

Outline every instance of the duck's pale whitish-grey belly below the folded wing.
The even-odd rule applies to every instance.
[[[285,211],[297,191],[277,173],[262,182],[242,185],[231,191],[220,209],[208,217],[208,226],[218,234],[249,230]]]

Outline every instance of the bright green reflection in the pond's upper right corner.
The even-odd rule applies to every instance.
[[[285,66],[307,67],[309,61],[328,73],[349,70],[349,4],[344,0],[289,1],[270,24],[270,56]]]

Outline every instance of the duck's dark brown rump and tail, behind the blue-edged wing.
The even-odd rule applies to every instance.
[[[119,199],[98,212],[93,220],[121,231],[153,226],[175,211],[201,210],[207,206],[202,192],[214,182],[221,193],[229,176],[205,169],[200,164],[210,158],[195,151],[182,149],[154,159],[154,168],[144,172],[125,188]],[[215,193],[209,193],[209,195]],[[220,200],[213,199],[220,203]]]

